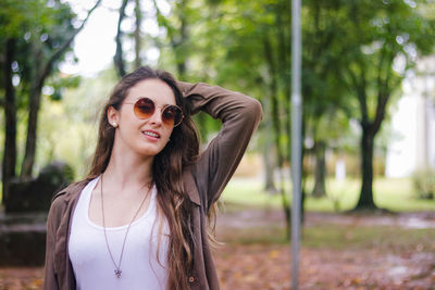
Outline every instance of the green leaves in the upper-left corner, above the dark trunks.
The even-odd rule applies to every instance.
[[[26,97],[36,86],[48,60],[74,30],[74,18],[75,14],[70,5],[60,1],[1,1],[0,53],[3,53],[5,39],[16,39],[13,73],[20,79],[15,87],[15,102],[20,110],[27,109],[29,99]],[[58,72],[62,60],[63,58],[59,58],[50,65],[51,72]],[[65,78],[59,85],[67,85],[64,81]],[[3,83],[1,84],[0,90],[3,88]],[[55,86],[54,98],[61,97],[60,86]]]

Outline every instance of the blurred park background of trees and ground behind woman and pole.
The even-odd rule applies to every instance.
[[[0,289],[40,289],[45,220],[100,109],[150,65],[264,111],[220,201],[223,289],[290,289],[289,0],[0,0]],[[301,289],[435,287],[435,1],[302,1]],[[202,144],[220,123],[195,116]],[[34,247],[29,247],[33,244]]]

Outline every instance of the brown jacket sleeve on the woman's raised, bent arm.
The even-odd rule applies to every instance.
[[[224,190],[262,117],[259,101],[207,84],[178,81],[192,114],[203,111],[222,121],[219,135],[201,153],[191,172],[206,212]]]

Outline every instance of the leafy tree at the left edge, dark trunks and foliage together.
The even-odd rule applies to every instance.
[[[21,171],[21,177],[26,178],[32,176],[35,163],[38,111],[45,81],[58,70],[74,37],[100,2],[96,2],[76,28],[73,25],[75,15],[61,1],[1,2],[0,36],[8,43],[7,49],[1,50],[7,56],[2,62],[1,85],[5,94],[3,106],[7,119],[2,165],[3,201],[8,199],[11,178],[16,176],[16,111],[23,104],[28,105],[27,139]],[[15,86],[12,86],[12,76],[16,77]]]

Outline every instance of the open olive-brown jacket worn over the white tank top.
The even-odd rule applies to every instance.
[[[192,290],[216,290],[219,280],[208,240],[207,214],[240,162],[262,110],[257,100],[216,86],[178,81],[178,87],[190,103],[191,113],[204,111],[223,123],[219,135],[183,174],[195,239],[194,267],[188,282]],[[67,244],[75,205],[89,181],[72,184],[53,198],[47,222],[45,290],[76,289]]]

